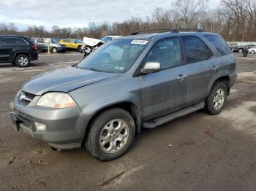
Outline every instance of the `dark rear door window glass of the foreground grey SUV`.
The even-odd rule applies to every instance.
[[[196,36],[182,36],[187,63],[205,61],[213,55],[211,50]]]

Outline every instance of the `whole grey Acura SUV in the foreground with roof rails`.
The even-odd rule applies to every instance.
[[[12,123],[54,149],[85,146],[99,160],[112,160],[140,128],[200,109],[219,114],[236,77],[236,60],[219,34],[124,36],[75,66],[26,82]]]

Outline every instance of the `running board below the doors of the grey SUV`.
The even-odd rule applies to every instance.
[[[171,114],[166,114],[166,115],[164,115],[162,117],[158,117],[154,120],[149,120],[147,122],[143,122],[142,127],[143,128],[156,128],[157,126],[162,125],[166,122],[170,122],[171,120],[175,120],[178,117],[182,117],[184,115],[190,114],[197,110],[203,109],[204,106],[205,106],[205,102],[202,101],[199,104],[189,106],[189,107],[187,107],[185,109],[181,109],[177,112],[173,112]]]

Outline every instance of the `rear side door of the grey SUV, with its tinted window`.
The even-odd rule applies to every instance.
[[[206,98],[208,85],[219,76],[219,61],[199,37],[182,36],[181,39],[187,61],[186,105],[189,106]]]

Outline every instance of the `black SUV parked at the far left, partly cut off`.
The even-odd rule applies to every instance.
[[[27,67],[38,58],[37,45],[25,36],[0,35],[0,63]]]

